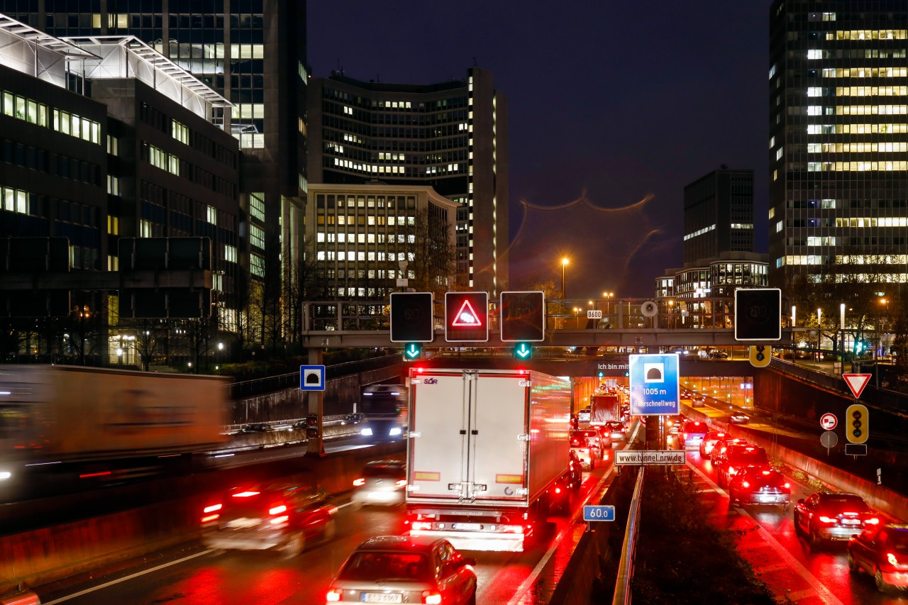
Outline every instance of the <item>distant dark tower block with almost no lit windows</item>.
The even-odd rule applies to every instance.
[[[684,188],[684,262],[754,252],[754,171],[722,167]]]

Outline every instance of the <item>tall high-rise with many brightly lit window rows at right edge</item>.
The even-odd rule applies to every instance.
[[[772,285],[908,281],[906,47],[903,0],[773,3]]]

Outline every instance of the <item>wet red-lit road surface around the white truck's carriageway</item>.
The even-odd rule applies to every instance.
[[[551,531],[529,550],[469,551],[478,560],[478,602],[548,602],[583,530],[584,524],[576,521],[580,507],[587,499],[601,496],[610,471],[609,463],[585,473],[583,487],[571,497],[572,515],[550,517]],[[128,566],[95,572],[92,578],[36,591],[44,605],[321,605],[331,577],[361,541],[404,530],[402,507],[353,510],[341,503],[339,509],[335,539],[312,544],[296,559],[285,560],[279,554],[259,551],[219,553],[193,542],[179,549],[155,552]]]

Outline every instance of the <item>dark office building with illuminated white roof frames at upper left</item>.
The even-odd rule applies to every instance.
[[[226,99],[133,36],[55,38],[0,15],[0,43],[0,235],[66,237],[84,273],[117,271],[121,237],[208,237],[214,307],[202,314],[230,330],[239,144],[210,121]],[[79,313],[129,316],[116,292],[82,283]],[[122,334],[82,346],[133,363]]]

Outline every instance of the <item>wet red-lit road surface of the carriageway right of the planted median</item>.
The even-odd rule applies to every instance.
[[[795,603],[877,605],[908,603],[908,593],[884,595],[866,574],[848,571],[844,542],[812,549],[795,534],[794,502],[814,489],[789,478],[792,510],[769,506],[730,506],[728,495],[716,485],[716,471],[699,451],[688,451],[687,461],[704,501],[704,511],[722,527],[739,531],[738,550],[780,597]]]

